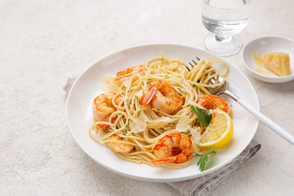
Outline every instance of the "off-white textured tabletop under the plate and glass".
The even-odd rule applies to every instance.
[[[253,0],[244,43],[294,39],[293,0]],[[68,77],[106,54],[147,43],[203,49],[199,0],[1,0],[0,195],[177,196],[164,183],[110,172],[75,143],[65,116]],[[294,134],[294,81],[250,76],[241,53],[226,58],[252,82],[261,111]],[[260,124],[260,152],[211,196],[293,196],[294,147]]]

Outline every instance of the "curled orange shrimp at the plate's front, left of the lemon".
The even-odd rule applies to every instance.
[[[191,159],[194,148],[190,138],[182,133],[173,132],[157,140],[152,150],[158,159],[151,163],[184,163]]]

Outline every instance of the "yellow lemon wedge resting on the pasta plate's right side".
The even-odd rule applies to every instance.
[[[212,147],[225,147],[233,137],[233,122],[231,117],[222,110],[216,110],[213,119],[202,134],[198,147],[210,150]]]

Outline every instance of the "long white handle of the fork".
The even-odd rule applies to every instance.
[[[263,113],[257,111],[253,107],[251,107],[249,104],[247,104],[242,99],[238,98],[236,95],[234,95],[232,92],[226,90],[223,92],[230,98],[234,99],[239,103],[242,107],[244,107],[248,112],[250,112],[253,116],[255,116],[260,122],[264,123],[266,126],[268,126],[271,130],[273,130],[276,134],[284,138],[286,141],[288,141],[290,144],[294,146],[294,136],[291,135],[288,131],[286,131],[283,127],[278,125],[277,123],[270,120],[269,117],[264,115]]]

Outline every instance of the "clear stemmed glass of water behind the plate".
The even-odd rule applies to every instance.
[[[201,0],[203,25],[212,33],[204,39],[207,50],[230,56],[242,48],[236,34],[248,24],[251,0]]]

